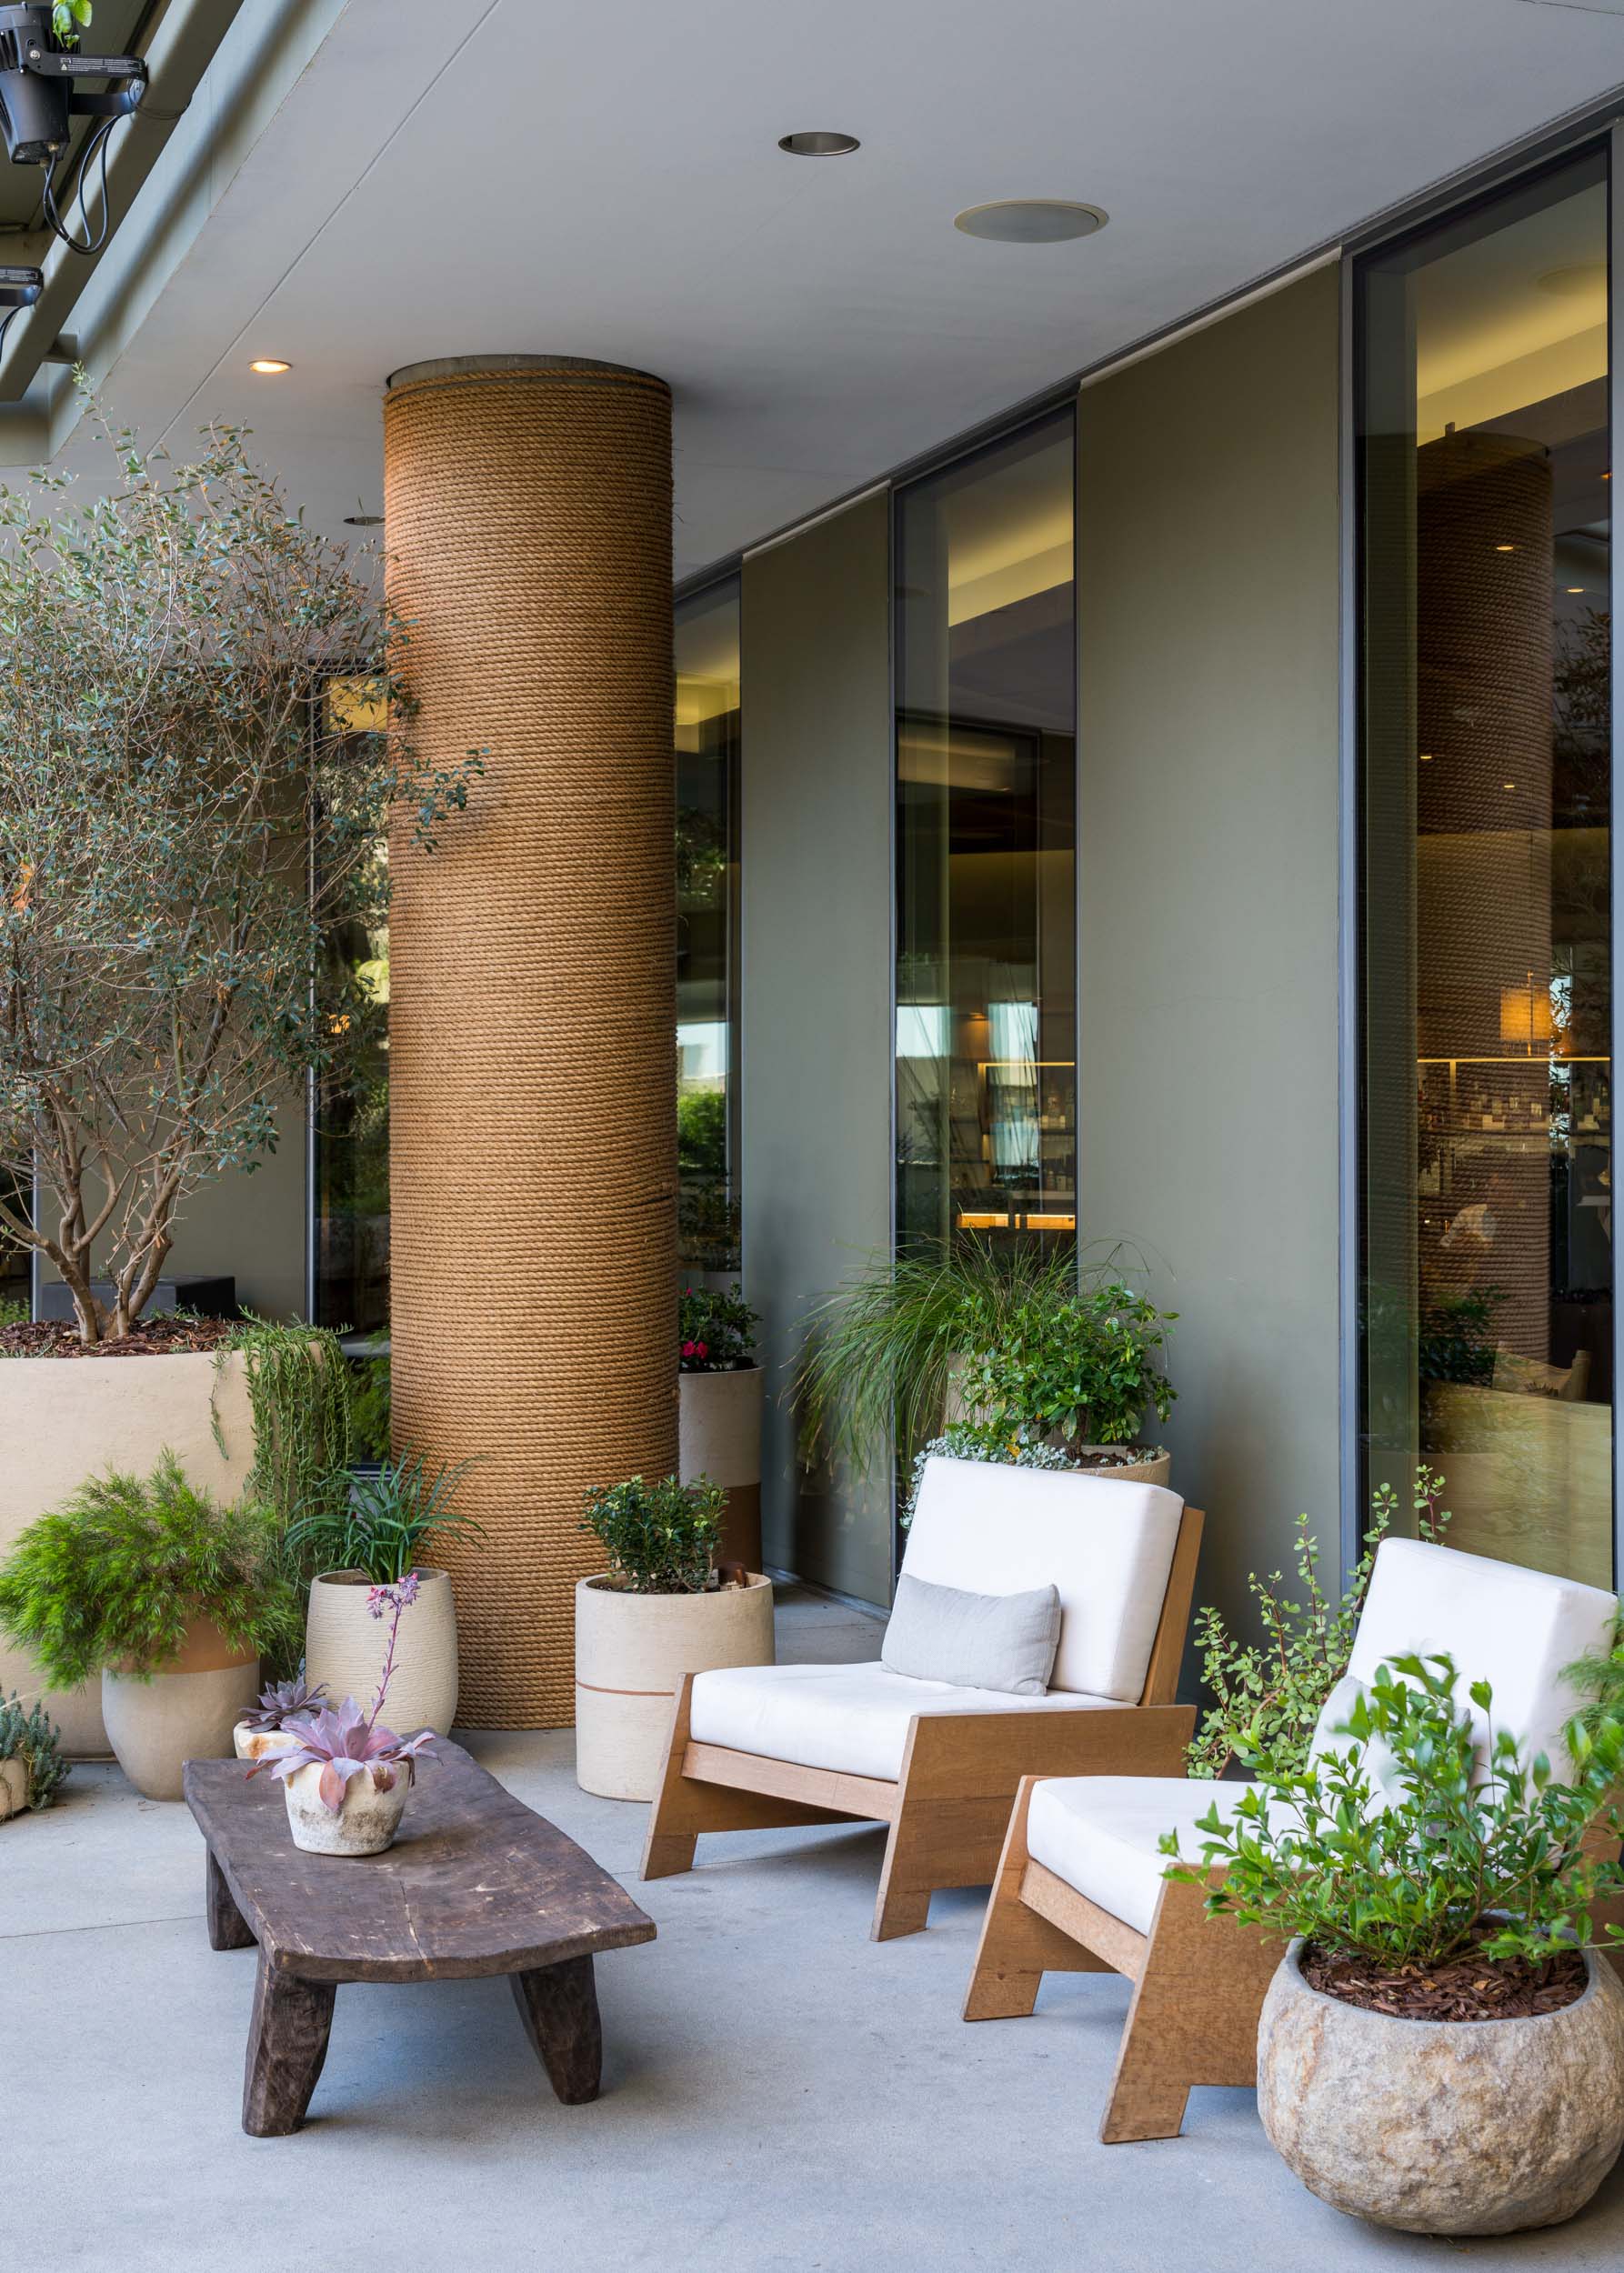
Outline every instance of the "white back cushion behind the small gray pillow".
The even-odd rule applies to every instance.
[[[1185,1502],[1155,1484],[928,1459],[903,1571],[964,1593],[1060,1596],[1051,1689],[1137,1705]]]

